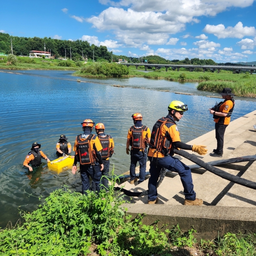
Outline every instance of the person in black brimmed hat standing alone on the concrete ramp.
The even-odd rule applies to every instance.
[[[211,157],[222,157],[223,145],[224,145],[224,134],[227,126],[230,123],[230,116],[235,107],[235,100],[230,88],[224,88],[221,93],[223,102],[216,104],[213,108],[210,108],[210,114],[213,115],[215,122],[215,138],[217,140],[217,148],[213,149],[213,153],[209,154]]]

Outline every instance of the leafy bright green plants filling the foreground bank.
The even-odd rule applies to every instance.
[[[113,190],[116,180],[110,180],[109,192],[98,195],[55,190],[37,210],[21,213],[23,224],[0,230],[1,255],[256,255],[255,234],[227,233],[215,241],[196,241],[193,229],[182,234],[178,225],[172,230],[157,222],[143,225],[143,216],[132,219],[122,208],[125,201]]]

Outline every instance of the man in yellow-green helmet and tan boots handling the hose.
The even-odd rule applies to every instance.
[[[176,157],[172,149],[186,149],[204,155],[207,149],[203,145],[188,145],[180,141],[180,133],[176,122],[179,122],[187,105],[180,101],[172,101],[168,106],[169,114],[160,118],[152,129],[149,143],[148,160],[150,161],[150,178],[148,180],[148,204],[157,204],[157,181],[162,168],[177,172],[184,188],[185,205],[202,205],[203,200],[196,198],[191,170]]]

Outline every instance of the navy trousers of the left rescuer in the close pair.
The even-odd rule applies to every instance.
[[[99,183],[102,177],[102,172],[100,171],[99,163],[95,166],[92,165],[80,165],[80,173],[82,180],[82,194],[87,194],[87,190],[90,188],[90,177],[95,184],[95,191],[99,192]]]

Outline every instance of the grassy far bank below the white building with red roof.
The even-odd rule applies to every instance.
[[[43,58],[16,57],[17,63],[7,65],[7,58],[0,56],[0,69],[4,70],[80,70],[83,61],[61,61]]]

